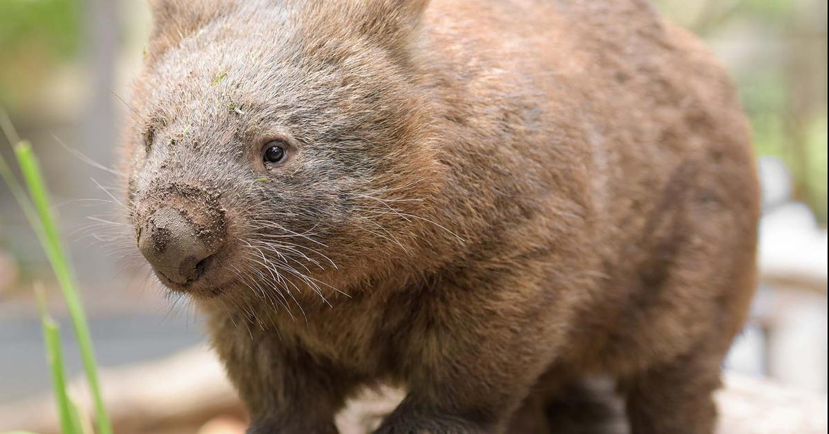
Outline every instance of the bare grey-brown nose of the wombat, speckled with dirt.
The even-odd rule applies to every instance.
[[[216,253],[199,237],[193,222],[170,207],[161,207],[138,234],[138,248],[153,269],[177,284],[199,276],[203,261]]]

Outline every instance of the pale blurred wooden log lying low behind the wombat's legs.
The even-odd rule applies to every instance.
[[[224,369],[206,346],[187,349],[170,358],[101,373],[104,397],[118,434],[161,432],[241,434],[244,409]],[[84,411],[90,401],[80,379],[73,395]],[[608,392],[609,393],[609,392]],[[348,402],[337,416],[342,434],[362,434],[390,412],[403,393],[393,388],[366,391]],[[607,399],[602,401],[607,402]],[[720,407],[718,434],[825,434],[827,397],[794,391],[768,380],[734,373],[716,394]],[[49,395],[0,407],[0,431],[27,429],[57,434],[59,428]],[[607,414],[622,417],[618,406]],[[597,421],[570,421],[574,432],[594,432]],[[623,423],[608,424],[606,432],[627,432]],[[621,428],[620,428],[621,427]],[[200,431],[201,428],[201,431]],[[588,430],[588,431],[585,431]]]

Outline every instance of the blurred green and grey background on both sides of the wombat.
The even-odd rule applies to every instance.
[[[739,85],[754,127],[764,182],[761,280],[751,324],[728,368],[825,396],[827,2],[656,3],[710,43]],[[109,196],[120,198],[114,175],[61,145],[105,167],[117,164],[129,82],[150,26],[143,0],[0,0],[0,107],[32,141],[46,170],[104,367],[158,358],[205,339],[186,303],[167,300],[133,261],[130,230],[107,223],[119,221],[119,205]],[[5,142],[0,137],[0,153],[10,159]],[[0,406],[49,388],[32,301],[38,280],[64,324],[70,371],[79,373],[46,258],[2,187]]]

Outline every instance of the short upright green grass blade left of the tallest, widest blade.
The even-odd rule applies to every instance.
[[[66,370],[63,362],[63,350],[61,349],[61,329],[46,312],[46,303],[42,297],[42,291],[38,291],[38,308],[41,313],[41,325],[43,327],[43,341],[46,345],[46,357],[51,370],[52,388],[55,393],[57,412],[61,418],[61,432],[63,434],[83,434],[80,429],[80,421],[75,412],[69,393],[66,388]]]

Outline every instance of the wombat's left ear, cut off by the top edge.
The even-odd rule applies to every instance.
[[[232,0],[148,0],[153,32],[148,61],[235,8]]]

